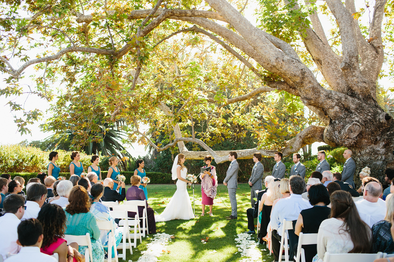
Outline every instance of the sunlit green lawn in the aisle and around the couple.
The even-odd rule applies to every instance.
[[[130,186],[126,186],[127,188]],[[246,209],[251,207],[250,188],[248,184],[238,184],[237,203],[238,203],[238,220],[226,220],[226,216],[231,214],[230,200],[227,193],[227,187],[219,185],[214,199],[213,217],[200,216],[201,214],[201,185],[194,186],[195,196],[195,214],[198,215],[191,220],[171,220],[167,222],[158,222],[156,227],[158,232],[173,234],[175,239],[166,246],[170,253],[163,253],[158,259],[163,262],[186,262],[186,261],[213,261],[213,262],[238,262],[242,259],[234,239],[236,234],[247,231]],[[173,196],[175,185],[148,185],[148,203],[159,214],[164,210],[166,204]],[[193,207],[193,188],[188,189],[191,205]],[[223,200],[223,201],[222,201]],[[164,204],[163,204],[164,202]],[[208,212],[208,207],[205,208]],[[255,220],[256,223],[256,220]],[[201,243],[201,238],[209,236],[206,244]],[[256,240],[256,234],[252,235]],[[137,261],[141,256],[141,251],[146,250],[146,244],[150,238],[142,238],[142,242],[137,244],[133,249],[133,255],[126,250],[126,261]],[[267,249],[266,245],[259,245],[259,249]],[[216,250],[216,253],[209,254],[210,251]],[[268,249],[267,249],[268,250]],[[119,252],[122,252],[119,250]],[[261,251],[262,259],[272,261],[273,257],[268,256],[268,251]],[[121,259],[119,261],[122,261]]]

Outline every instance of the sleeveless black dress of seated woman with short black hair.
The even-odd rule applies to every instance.
[[[329,218],[331,208],[327,206],[314,206],[301,211],[303,220],[304,234],[316,234],[319,231],[320,224],[323,220]],[[318,253],[317,245],[302,245],[305,251],[305,261],[312,262],[313,257]]]

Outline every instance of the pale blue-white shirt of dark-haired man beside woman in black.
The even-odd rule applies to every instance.
[[[271,228],[276,229],[282,235],[283,219],[286,221],[297,220],[302,210],[311,208],[309,201],[301,195],[290,194],[290,197],[280,199],[271,212]]]

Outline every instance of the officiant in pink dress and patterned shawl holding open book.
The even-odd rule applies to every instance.
[[[201,209],[203,212],[201,216],[205,214],[205,206],[209,205],[209,216],[213,216],[212,214],[212,206],[214,205],[214,198],[216,197],[216,188],[217,188],[217,176],[216,176],[216,168],[211,165],[212,157],[207,155],[204,157],[204,162],[206,166],[203,168],[211,168],[210,172],[204,171],[204,173],[200,174],[201,178]]]

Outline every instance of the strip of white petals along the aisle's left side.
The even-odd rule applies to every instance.
[[[138,262],[160,261],[157,258],[161,256],[162,253],[170,253],[170,251],[165,249],[165,246],[171,242],[171,238],[174,238],[174,236],[165,233],[158,233],[153,236],[151,243],[147,244],[147,250],[141,251]]]

